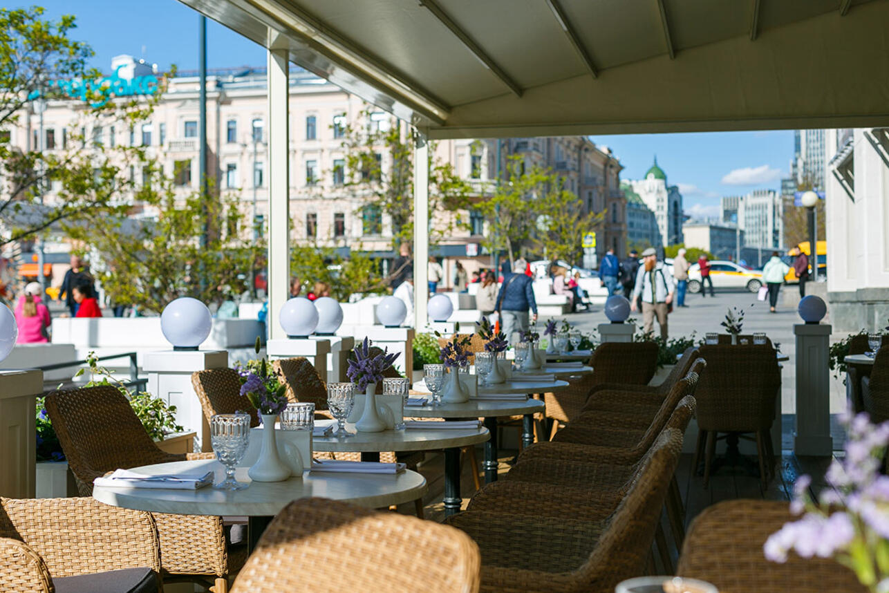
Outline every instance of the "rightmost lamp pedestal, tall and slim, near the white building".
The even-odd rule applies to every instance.
[[[798,324],[797,424],[793,450],[797,455],[830,455],[830,325]],[[779,397],[781,397],[779,395]]]

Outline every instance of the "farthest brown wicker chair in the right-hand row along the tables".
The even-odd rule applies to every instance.
[[[559,393],[544,394],[547,418],[552,422],[550,438],[559,423],[570,422],[581,413],[590,391],[600,383],[646,385],[657,369],[658,346],[654,342],[607,342],[593,352],[593,372],[569,381],[570,386]]]

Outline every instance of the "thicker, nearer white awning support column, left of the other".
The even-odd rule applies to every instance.
[[[274,47],[274,44],[269,44]],[[286,340],[277,316],[290,283],[288,52],[268,50],[268,317],[267,337]]]

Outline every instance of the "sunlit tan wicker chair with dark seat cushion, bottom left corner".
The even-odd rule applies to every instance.
[[[0,591],[156,593],[157,530],[150,514],[89,498],[0,498]]]

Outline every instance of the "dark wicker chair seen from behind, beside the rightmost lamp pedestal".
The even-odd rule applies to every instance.
[[[781,389],[781,371],[771,346],[701,346],[707,370],[701,373],[698,400],[698,443],[693,468],[697,468],[706,442],[704,487],[709,485],[710,464],[716,452],[717,434],[754,433],[759,473],[765,486],[766,468],[772,469],[770,430],[775,419],[775,398]]]

